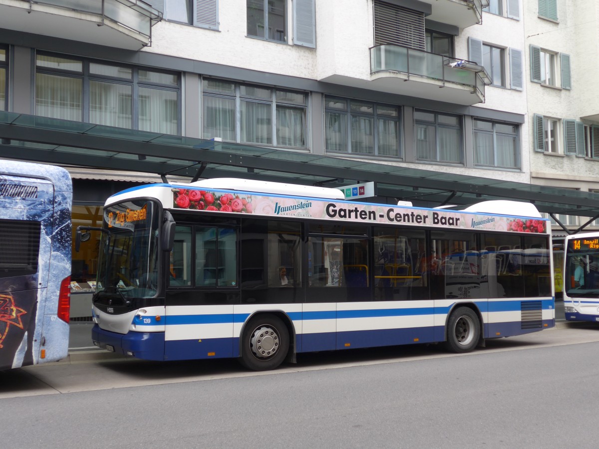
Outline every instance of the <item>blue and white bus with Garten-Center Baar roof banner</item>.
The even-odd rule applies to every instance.
[[[76,247],[89,229],[92,340],[125,356],[265,370],[308,351],[462,353],[555,325],[550,229],[531,204],[426,209],[219,178],[117,193]]]

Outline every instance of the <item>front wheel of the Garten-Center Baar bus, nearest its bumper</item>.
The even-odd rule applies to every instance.
[[[251,318],[241,335],[241,364],[254,371],[275,369],[289,351],[289,331],[275,315]]]

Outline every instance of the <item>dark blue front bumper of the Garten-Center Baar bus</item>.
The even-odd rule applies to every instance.
[[[164,360],[164,332],[128,332],[125,334],[92,328],[96,347],[143,360]]]

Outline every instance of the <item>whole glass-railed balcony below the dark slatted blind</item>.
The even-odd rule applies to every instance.
[[[393,44],[370,48],[370,74],[377,90],[459,105],[485,102],[491,84],[474,62]]]

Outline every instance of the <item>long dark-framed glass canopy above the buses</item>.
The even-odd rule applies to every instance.
[[[238,177],[325,187],[374,181],[377,196],[416,206],[512,199],[531,202],[554,218],[599,216],[599,193],[5,111],[0,111],[0,138],[0,157],[7,159],[146,172],[165,180]]]

